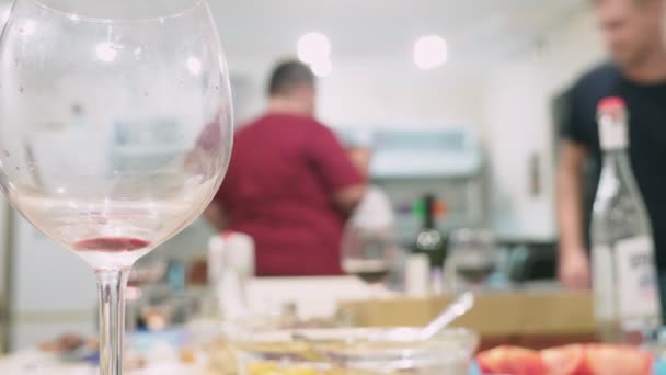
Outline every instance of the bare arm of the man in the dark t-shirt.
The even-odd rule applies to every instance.
[[[563,140],[558,169],[558,224],[560,227],[560,262],[558,276],[570,288],[587,288],[590,271],[583,241],[583,164],[587,158],[584,146]]]

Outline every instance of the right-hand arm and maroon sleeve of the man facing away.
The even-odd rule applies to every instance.
[[[345,214],[352,213],[365,195],[365,179],[358,173],[333,132],[325,126],[312,124],[308,138],[309,162],[337,208]]]

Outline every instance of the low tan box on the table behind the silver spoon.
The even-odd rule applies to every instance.
[[[368,327],[423,326],[451,300],[448,297],[346,300],[341,308]],[[595,339],[593,297],[555,288],[482,293],[474,308],[453,326],[481,334],[484,345],[498,343],[544,348]]]

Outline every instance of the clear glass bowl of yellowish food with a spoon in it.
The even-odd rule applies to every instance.
[[[469,374],[475,333],[450,329],[418,340],[414,328],[311,329],[244,334],[239,375]]]

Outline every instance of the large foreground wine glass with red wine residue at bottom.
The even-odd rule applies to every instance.
[[[0,84],[0,188],[93,268],[101,374],[120,374],[130,266],[200,215],[229,162],[229,76],[208,3],[16,0]]]

